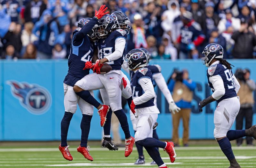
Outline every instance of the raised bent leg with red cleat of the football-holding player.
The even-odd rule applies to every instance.
[[[99,74],[93,73],[84,76],[81,80],[77,81],[73,87],[76,94],[84,101],[97,108],[100,115],[100,126],[104,126],[109,106],[101,105],[91,94],[90,90],[98,90],[104,88],[104,85],[99,79]]]

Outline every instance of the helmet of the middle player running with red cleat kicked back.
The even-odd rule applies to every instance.
[[[125,59],[125,68],[128,68],[129,70],[146,67],[148,62],[147,54],[143,50],[137,48],[128,52],[125,56]]]

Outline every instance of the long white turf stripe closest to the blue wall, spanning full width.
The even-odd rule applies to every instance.
[[[232,147],[233,150],[256,150],[256,147]],[[70,151],[76,151],[76,148],[69,148]],[[119,148],[125,150],[125,148]],[[134,148],[133,150],[137,150]],[[177,147],[175,150],[220,150],[220,147]],[[56,148],[0,148],[0,152],[54,152],[59,151]],[[109,151],[107,148],[90,148],[89,151]]]

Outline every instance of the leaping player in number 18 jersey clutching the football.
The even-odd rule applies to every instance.
[[[126,16],[127,18],[127,16]],[[128,19],[128,18],[127,18]],[[98,57],[96,63],[91,66],[96,73],[89,74],[79,80],[75,86],[75,92],[83,92],[88,90],[105,89],[105,93],[101,91],[103,102],[110,105],[111,110],[117,116],[121,127],[125,134],[125,157],[128,157],[133,148],[134,138],[130,135],[127,117],[121,106],[121,89],[120,83],[122,79],[121,65],[124,62],[124,49],[126,44],[126,31],[114,28],[114,22],[111,15],[103,16],[94,26],[94,31],[98,40]],[[100,74],[100,68],[103,63],[107,62],[112,70],[107,74]],[[91,62],[88,61],[88,65]],[[90,66],[88,66],[90,68]],[[88,93],[88,92],[87,92]],[[90,95],[80,96],[83,99]],[[104,125],[104,124],[103,124]],[[105,140],[111,141],[109,137]]]

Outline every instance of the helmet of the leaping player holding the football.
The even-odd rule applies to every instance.
[[[113,27],[114,21],[111,15],[106,14],[98,20],[93,29],[97,38],[105,38]]]

